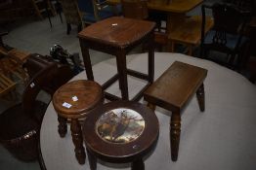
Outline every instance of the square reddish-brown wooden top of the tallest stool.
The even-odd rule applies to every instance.
[[[154,22],[146,20],[110,17],[86,27],[78,37],[123,48],[149,34],[154,26]]]

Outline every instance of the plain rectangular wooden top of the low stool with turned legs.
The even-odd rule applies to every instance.
[[[144,93],[151,104],[180,112],[197,88],[202,85],[207,70],[175,61]]]

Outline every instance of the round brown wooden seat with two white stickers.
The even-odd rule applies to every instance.
[[[73,81],[61,86],[54,94],[53,105],[64,118],[83,118],[103,102],[101,85],[93,81]]]

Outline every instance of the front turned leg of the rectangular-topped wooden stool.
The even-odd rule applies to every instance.
[[[176,161],[179,153],[180,134],[181,134],[181,115],[179,112],[172,113],[170,125],[171,125],[171,131],[170,131],[171,155],[172,155],[172,160]]]

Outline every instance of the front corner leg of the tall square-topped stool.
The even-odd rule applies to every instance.
[[[116,55],[116,65],[119,74],[119,85],[121,85],[122,99],[129,100],[125,51],[119,51],[118,55]]]

